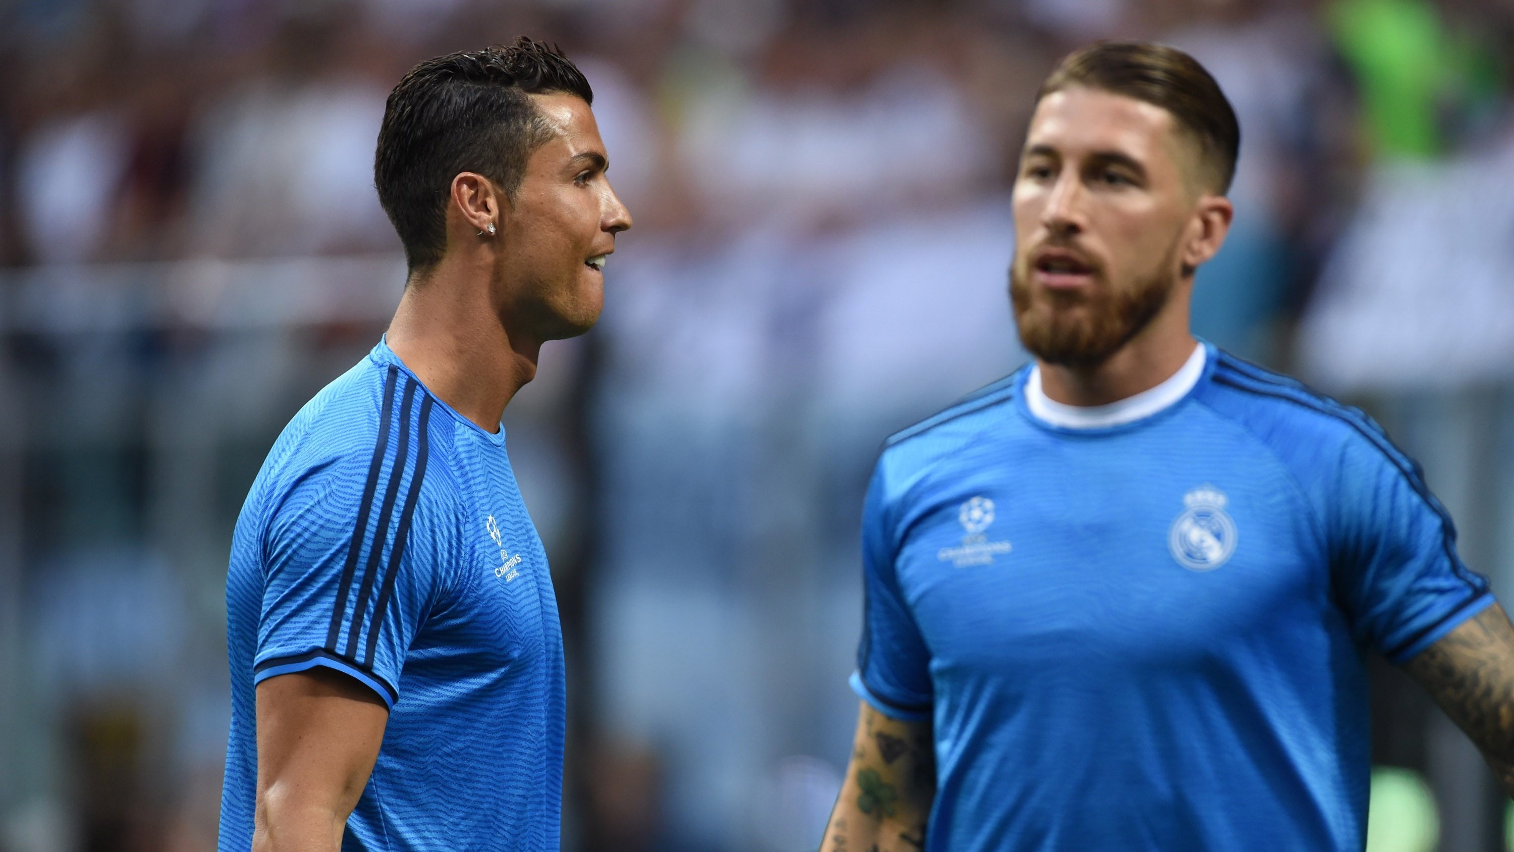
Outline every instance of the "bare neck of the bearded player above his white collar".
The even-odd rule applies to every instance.
[[[1042,389],[1066,406],[1119,403],[1170,378],[1196,344],[1188,331],[1187,298],[1173,292],[1167,307],[1108,359],[1090,366],[1039,360]]]

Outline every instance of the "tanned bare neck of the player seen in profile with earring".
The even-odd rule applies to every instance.
[[[542,348],[504,327],[486,263],[447,257],[412,277],[386,339],[427,390],[489,433]]]

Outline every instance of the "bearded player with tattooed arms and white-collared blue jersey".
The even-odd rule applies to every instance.
[[[1366,649],[1514,790],[1514,628],[1419,468],[1188,331],[1238,142],[1178,50],[1043,85],[1010,271],[1036,360],[884,445],[824,852],[1360,850]]]

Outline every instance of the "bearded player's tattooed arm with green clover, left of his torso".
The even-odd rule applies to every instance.
[[[902,722],[861,702],[846,781],[821,852],[919,852],[936,801],[930,722]]]

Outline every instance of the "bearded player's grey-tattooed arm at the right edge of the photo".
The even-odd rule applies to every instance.
[[[1514,625],[1497,604],[1403,664],[1514,796]]]

